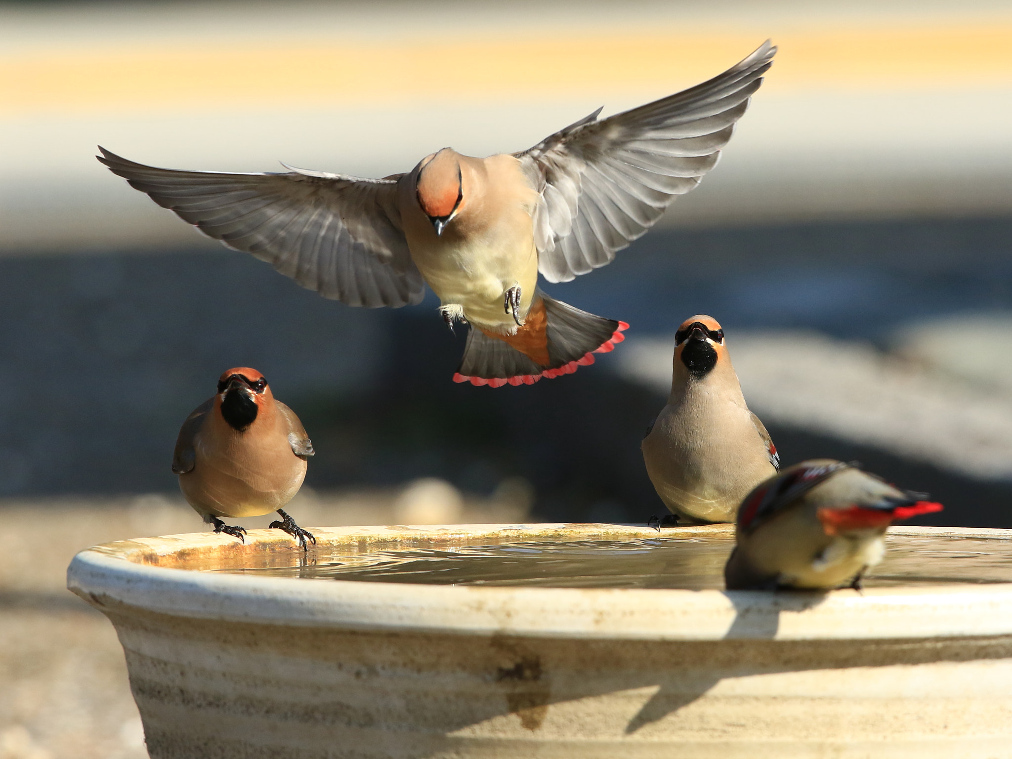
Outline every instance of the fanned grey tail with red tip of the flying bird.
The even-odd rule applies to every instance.
[[[625,322],[588,314],[538,291],[524,325],[513,335],[472,326],[455,383],[533,385],[542,376],[572,374],[625,339]]]

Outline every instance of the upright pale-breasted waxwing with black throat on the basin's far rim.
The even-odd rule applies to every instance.
[[[671,395],[642,448],[654,489],[684,521],[733,522],[742,498],[776,474],[776,447],[745,405],[712,317],[690,317],[675,333]]]

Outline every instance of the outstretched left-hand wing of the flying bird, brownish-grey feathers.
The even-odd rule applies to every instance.
[[[304,287],[366,308],[422,300],[422,277],[401,230],[396,177],[175,171],[99,150],[99,161],[159,205]]]

